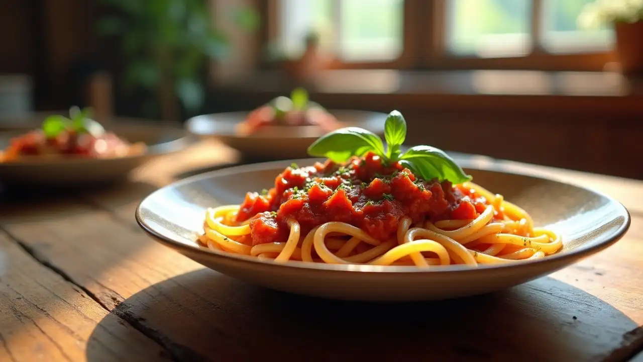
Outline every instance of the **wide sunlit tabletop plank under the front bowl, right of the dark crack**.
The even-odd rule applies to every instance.
[[[1,216],[0,224],[184,359],[269,353],[306,360],[611,361],[633,354],[643,340],[636,332],[643,324],[643,275],[635,270],[643,219],[636,216],[624,240],[548,278],[465,300],[372,305],[251,287],[202,269],[112,214],[73,202],[55,207],[64,216],[31,205]]]

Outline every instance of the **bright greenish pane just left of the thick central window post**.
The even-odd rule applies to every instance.
[[[341,0],[338,52],[345,61],[384,61],[402,52],[402,0]]]

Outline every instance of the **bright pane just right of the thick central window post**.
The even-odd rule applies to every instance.
[[[530,0],[449,0],[447,48],[478,57],[525,55],[532,47],[530,14]]]

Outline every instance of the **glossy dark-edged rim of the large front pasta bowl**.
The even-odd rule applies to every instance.
[[[475,155],[467,155],[467,154],[461,154],[461,155],[465,157],[468,157],[468,156],[475,157]],[[600,252],[606,249],[607,247],[610,247],[611,245],[613,245],[613,243],[619,241],[624,236],[624,234],[628,231],[629,226],[631,224],[631,216],[629,214],[628,209],[619,201],[615,200],[611,196],[605,195],[601,191],[597,191],[590,187],[584,187],[577,184],[572,184],[570,182],[566,182],[565,180],[557,180],[556,178],[551,178],[544,175],[538,175],[538,173],[508,170],[506,169],[506,167],[503,166],[502,160],[496,161],[496,160],[492,160],[491,158],[486,158],[484,160],[485,162],[475,162],[472,160],[458,160],[458,164],[460,164],[460,166],[462,166],[463,168],[468,168],[468,169],[478,169],[480,171],[493,171],[497,173],[507,173],[512,175],[527,176],[530,178],[539,178],[541,180],[548,180],[552,182],[557,182],[559,184],[579,187],[581,189],[589,191],[590,193],[594,193],[596,195],[599,195],[608,199],[610,204],[617,205],[617,207],[620,209],[619,210],[620,212],[617,216],[622,216],[624,220],[619,225],[616,231],[613,231],[612,234],[608,236],[605,236],[604,234],[599,236],[598,237],[599,240],[593,243],[593,245],[588,246],[586,245],[586,243],[583,243],[582,245],[579,245],[579,247],[575,247],[574,249],[572,249],[572,251],[570,252],[557,253],[542,259],[525,260],[520,263],[480,264],[478,265],[478,267],[468,267],[467,265],[444,265],[444,266],[436,265],[436,266],[432,266],[429,269],[423,269],[415,266],[401,266],[401,265],[379,266],[379,265],[354,265],[354,264],[327,264],[327,263],[300,262],[296,260],[292,260],[287,263],[275,263],[271,261],[259,260],[258,258],[255,258],[252,256],[231,254],[228,252],[212,251],[206,247],[201,247],[196,242],[194,242],[194,245],[189,245],[187,243],[173,240],[172,238],[168,238],[167,236],[161,233],[158,233],[153,227],[150,227],[150,225],[147,225],[147,223],[145,222],[141,214],[141,207],[143,206],[143,204],[145,204],[146,200],[154,197],[154,195],[157,193],[163,192],[165,189],[169,189],[172,187],[177,187],[185,184],[190,184],[192,182],[197,182],[199,180],[206,180],[208,178],[212,178],[213,176],[234,175],[236,173],[239,173],[239,171],[256,172],[256,171],[262,171],[267,169],[274,169],[277,166],[279,167],[282,167],[283,165],[287,166],[293,162],[297,164],[303,164],[303,162],[312,163],[319,160],[323,161],[323,159],[321,158],[300,158],[300,159],[294,159],[294,160],[278,160],[278,161],[271,161],[271,162],[261,162],[258,164],[233,166],[233,167],[228,167],[224,169],[218,169],[215,171],[209,171],[199,175],[190,176],[188,178],[184,178],[182,180],[172,182],[172,184],[169,184],[167,186],[161,187],[160,189],[150,193],[150,195],[143,198],[143,200],[141,200],[138,207],[136,207],[134,217],[136,218],[136,222],[141,227],[141,229],[143,229],[145,233],[147,233],[150,237],[152,237],[157,242],[182,253],[186,252],[188,254],[190,253],[201,254],[201,256],[204,256],[206,258],[212,258],[217,263],[234,262],[234,263],[244,264],[247,267],[260,267],[263,265],[264,267],[267,266],[267,267],[275,267],[275,268],[289,268],[290,270],[305,269],[306,271],[323,271],[323,272],[366,272],[366,273],[377,273],[377,274],[381,274],[381,273],[416,274],[416,273],[428,272],[428,273],[440,273],[441,275],[445,273],[462,274],[462,273],[471,273],[471,272],[478,272],[478,271],[484,271],[484,270],[489,271],[489,270],[507,269],[507,271],[511,271],[511,270],[515,270],[516,268],[536,267],[537,265],[539,266],[550,265],[551,266],[550,269],[552,269],[553,271],[554,269],[556,269],[556,265],[561,265],[561,264],[570,265],[574,262],[577,262],[581,258],[585,258],[587,256]],[[491,160],[491,162],[489,162],[488,160]],[[507,161],[507,162],[511,162],[511,161]]]

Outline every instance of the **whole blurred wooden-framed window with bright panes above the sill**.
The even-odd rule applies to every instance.
[[[280,48],[314,31],[345,68],[600,70],[611,29],[581,30],[593,0],[278,0],[269,21]]]

